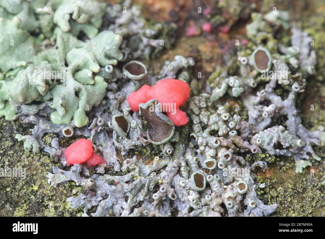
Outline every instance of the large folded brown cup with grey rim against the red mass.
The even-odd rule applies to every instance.
[[[174,123],[159,111],[159,104],[156,99],[139,104],[140,114],[148,122],[147,139],[153,144],[166,143],[175,132]]]

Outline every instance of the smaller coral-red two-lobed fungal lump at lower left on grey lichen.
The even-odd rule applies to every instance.
[[[83,164],[93,167],[105,163],[105,160],[93,152],[93,144],[88,139],[78,139],[64,151],[67,164]]]

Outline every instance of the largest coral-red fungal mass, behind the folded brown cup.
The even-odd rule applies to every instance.
[[[191,88],[189,85],[176,79],[165,79],[158,81],[154,86],[144,85],[127,98],[132,111],[139,111],[139,104],[146,103],[148,100],[157,99],[161,103],[175,103],[176,112],[166,112],[167,117],[174,122],[175,126],[185,125],[188,118],[185,112],[179,107],[184,106],[189,97]]]

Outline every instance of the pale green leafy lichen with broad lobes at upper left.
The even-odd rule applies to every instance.
[[[85,126],[88,123],[85,113],[106,94],[107,83],[100,76],[93,77],[93,73],[98,73],[100,66],[116,65],[117,60],[122,60],[123,53],[119,50],[122,37],[103,31],[83,42],[55,29],[56,45],[36,54],[34,38],[21,30],[19,23],[18,18],[0,22],[5,29],[2,33],[5,47],[0,55],[9,55],[0,68],[4,75],[0,82],[2,114],[7,119],[13,118],[14,113],[4,109],[8,108],[6,101],[32,103],[44,97],[44,100],[53,99],[51,107],[56,112],[51,114],[51,119],[55,124],[69,124],[73,117],[77,127]],[[33,63],[44,65],[32,66]]]

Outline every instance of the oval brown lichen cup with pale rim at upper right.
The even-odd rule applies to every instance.
[[[271,69],[272,56],[268,49],[257,47],[252,54],[253,66],[259,72]]]

